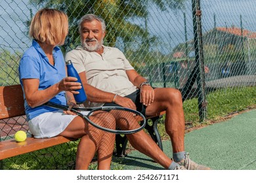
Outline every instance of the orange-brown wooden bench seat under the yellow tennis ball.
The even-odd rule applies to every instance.
[[[11,158],[12,156],[26,154],[70,141],[74,141],[74,139],[68,139],[62,136],[49,139],[34,139],[33,137],[28,137],[24,142],[16,142],[14,139],[1,141],[0,159]]]

